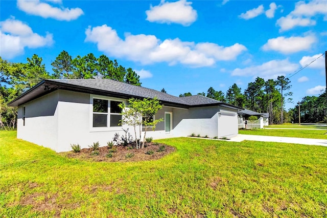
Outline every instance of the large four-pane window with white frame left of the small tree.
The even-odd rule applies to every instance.
[[[122,109],[119,104],[122,101],[93,98],[93,127],[119,126],[122,119]]]

